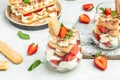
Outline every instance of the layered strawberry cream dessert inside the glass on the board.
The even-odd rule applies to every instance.
[[[103,49],[114,49],[120,44],[120,16],[111,8],[100,8],[93,31],[94,41]]]

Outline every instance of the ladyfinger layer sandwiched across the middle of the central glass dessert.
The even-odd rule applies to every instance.
[[[49,42],[48,43],[51,47],[53,48],[57,48],[65,53],[69,53],[70,50],[72,49],[72,47],[74,46],[73,44],[70,44],[68,47],[60,47],[59,45],[57,45],[56,43],[52,43],[52,42]]]

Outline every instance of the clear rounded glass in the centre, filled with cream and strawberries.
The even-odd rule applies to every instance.
[[[68,72],[74,69],[82,60],[78,29],[73,27],[71,23],[64,22],[63,24],[73,31],[72,37],[61,40],[59,37],[53,37],[49,34],[49,41],[45,51],[47,66],[58,72]],[[57,47],[55,47],[56,45]]]

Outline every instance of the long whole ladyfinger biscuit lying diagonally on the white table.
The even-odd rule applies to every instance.
[[[0,40],[0,52],[15,64],[19,64],[23,61],[23,58],[19,53],[17,53],[7,43],[1,40]]]

